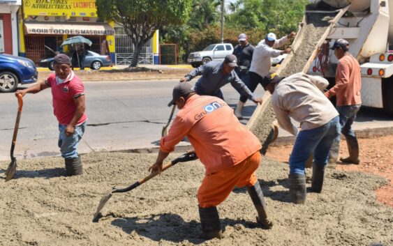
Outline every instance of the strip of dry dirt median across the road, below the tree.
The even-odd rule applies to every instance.
[[[138,79],[180,79],[189,69],[154,70],[149,68],[124,68],[121,70],[85,70],[75,71],[77,77],[85,81],[138,80]],[[44,81],[52,71],[38,72],[38,82]]]

